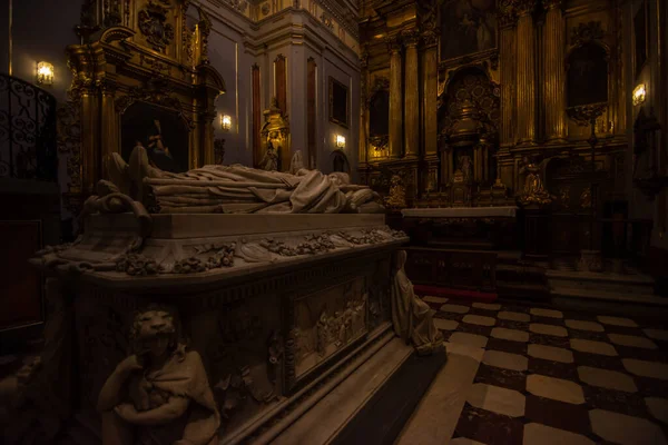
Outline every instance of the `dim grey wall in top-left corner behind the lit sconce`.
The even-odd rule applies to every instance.
[[[35,82],[37,62],[55,67],[55,82],[48,90],[58,101],[67,98],[71,73],[66,47],[77,43],[73,29],[79,23],[80,0],[13,0],[12,75]],[[0,72],[8,72],[9,0],[0,0]]]

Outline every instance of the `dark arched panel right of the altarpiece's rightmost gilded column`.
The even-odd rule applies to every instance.
[[[590,41],[577,46],[567,59],[569,108],[608,101],[608,50]]]

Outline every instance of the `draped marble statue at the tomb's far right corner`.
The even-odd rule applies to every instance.
[[[393,257],[392,323],[394,332],[413,346],[420,355],[432,354],[443,347],[443,336],[433,322],[434,310],[422,301],[406,276],[407,254],[399,250]]]

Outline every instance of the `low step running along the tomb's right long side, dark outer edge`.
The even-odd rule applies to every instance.
[[[257,442],[390,445],[445,360],[445,350],[419,357],[395,337],[277,437],[269,429]]]

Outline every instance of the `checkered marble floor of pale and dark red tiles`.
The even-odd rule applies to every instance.
[[[668,444],[657,322],[423,299],[446,342],[484,349],[451,444]]]

